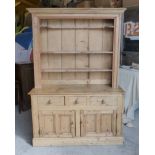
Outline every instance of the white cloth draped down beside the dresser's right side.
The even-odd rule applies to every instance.
[[[119,70],[119,86],[125,91],[123,123],[132,125],[134,112],[139,108],[139,71],[128,67]]]

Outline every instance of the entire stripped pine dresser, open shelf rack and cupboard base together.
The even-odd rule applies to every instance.
[[[35,8],[33,146],[122,144],[124,8]]]

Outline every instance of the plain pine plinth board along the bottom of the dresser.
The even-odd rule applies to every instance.
[[[118,145],[123,137],[33,138],[33,146]]]

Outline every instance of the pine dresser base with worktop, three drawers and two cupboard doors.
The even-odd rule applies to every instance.
[[[102,85],[33,89],[33,146],[123,144],[123,91]]]

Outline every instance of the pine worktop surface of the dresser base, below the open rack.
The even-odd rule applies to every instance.
[[[92,84],[92,85],[85,85],[85,84],[73,84],[73,85],[46,85],[44,88],[33,88],[29,94],[34,95],[53,95],[53,94],[105,94],[105,93],[123,93],[121,88],[114,89],[111,85],[107,84]]]

